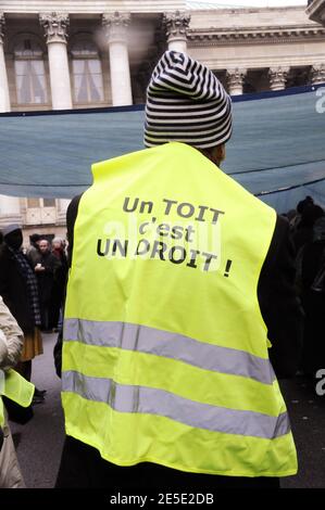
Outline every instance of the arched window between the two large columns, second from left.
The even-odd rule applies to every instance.
[[[101,62],[93,42],[80,40],[72,48],[74,101],[99,103],[103,101]]]

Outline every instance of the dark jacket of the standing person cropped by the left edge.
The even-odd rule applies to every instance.
[[[7,244],[0,246],[0,295],[23,332],[25,334],[32,333],[35,322],[27,283]]]

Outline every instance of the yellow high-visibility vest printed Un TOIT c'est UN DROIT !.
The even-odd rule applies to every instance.
[[[65,308],[66,433],[118,466],[295,474],[257,295],[274,209],[184,143],[92,171]]]

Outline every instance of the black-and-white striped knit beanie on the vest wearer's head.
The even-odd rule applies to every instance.
[[[204,65],[166,51],[153,69],[146,103],[145,145],[170,141],[208,149],[232,136],[232,100]]]

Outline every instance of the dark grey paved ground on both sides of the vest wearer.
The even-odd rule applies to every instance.
[[[26,425],[12,424],[27,487],[53,487],[64,428],[60,380],[53,365],[54,334],[43,335],[45,354],[33,361],[33,382],[47,388],[45,404],[34,406]],[[282,382],[299,456],[299,474],[283,479],[283,487],[325,488],[325,396],[317,397],[303,378]]]

